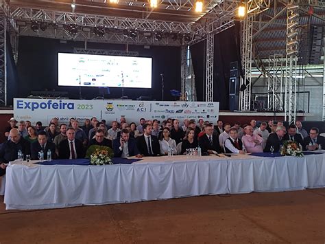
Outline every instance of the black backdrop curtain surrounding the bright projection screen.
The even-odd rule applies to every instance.
[[[84,48],[84,43],[67,41],[61,43],[51,38],[21,36],[19,38],[19,96],[29,96],[30,91],[68,91],[69,98],[79,98],[79,87],[58,86],[58,52],[73,53],[73,48]],[[87,43],[89,49],[125,50],[125,45],[108,43]],[[124,96],[135,99],[148,96],[152,100],[161,100],[161,76],[164,74],[164,100],[175,100],[169,92],[180,91],[180,47],[129,45],[129,51],[139,52],[139,56],[152,58],[152,89],[124,89]],[[121,88],[110,87],[107,98],[120,98]],[[82,98],[92,99],[99,96],[97,87],[82,87]]]

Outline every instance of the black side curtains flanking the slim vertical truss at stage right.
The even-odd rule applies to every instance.
[[[202,41],[190,47],[197,100],[205,100],[205,56],[206,42]],[[240,55],[240,23],[215,35],[213,62],[213,101],[219,102],[219,109],[229,109],[230,63],[241,64]],[[240,67],[240,66],[239,66]]]

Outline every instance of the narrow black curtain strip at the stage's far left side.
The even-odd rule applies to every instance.
[[[14,55],[10,44],[10,34],[7,33],[7,105],[12,106],[13,98],[18,96],[18,74],[16,64],[14,63]]]

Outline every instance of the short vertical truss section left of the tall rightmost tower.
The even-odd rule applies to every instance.
[[[267,109],[283,111],[283,56],[274,54],[269,56],[269,70],[267,71]]]

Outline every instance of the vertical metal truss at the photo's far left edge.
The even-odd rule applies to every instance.
[[[0,106],[7,105],[7,20],[0,10]]]

